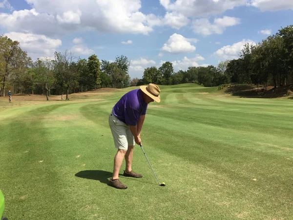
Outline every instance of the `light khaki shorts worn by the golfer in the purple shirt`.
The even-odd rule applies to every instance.
[[[109,126],[113,135],[115,148],[127,150],[128,146],[134,146],[134,136],[129,126],[120,121],[113,113],[109,115]]]

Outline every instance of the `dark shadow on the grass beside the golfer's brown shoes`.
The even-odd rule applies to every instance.
[[[107,184],[109,178],[112,177],[112,173],[103,170],[84,170],[78,172],[75,176],[85,179],[99,180],[100,182]]]

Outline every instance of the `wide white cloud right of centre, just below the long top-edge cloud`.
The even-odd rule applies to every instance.
[[[197,19],[192,22],[193,31],[197,34],[210,35],[222,34],[226,27],[240,23],[240,19],[224,16],[223,18],[214,19],[213,23],[209,19]]]

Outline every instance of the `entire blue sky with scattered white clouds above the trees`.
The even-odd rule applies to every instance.
[[[165,61],[217,66],[292,21],[293,0],[0,0],[0,32],[33,59],[125,55],[132,78]]]

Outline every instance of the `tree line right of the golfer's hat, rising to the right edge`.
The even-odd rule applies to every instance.
[[[286,86],[293,83],[293,25],[282,28],[258,44],[245,44],[239,55],[239,59],[226,60],[218,66],[192,66],[178,72],[174,72],[170,62],[159,68],[147,67],[143,78],[133,79],[131,85],[197,83],[214,87],[252,83],[275,88]]]

